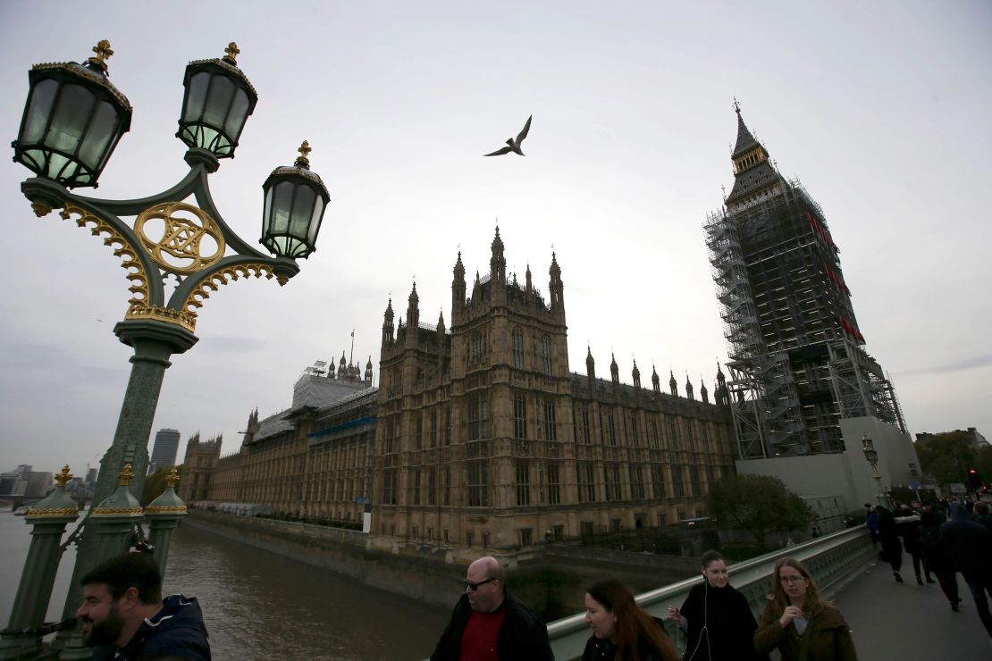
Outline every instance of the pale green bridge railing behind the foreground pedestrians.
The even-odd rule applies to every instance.
[[[859,526],[824,535],[808,542],[780,549],[763,556],[731,565],[730,581],[747,598],[755,616],[759,616],[772,592],[772,570],[779,558],[791,556],[802,561],[816,581],[819,592],[829,597],[839,586],[863,571],[875,559],[875,548],[868,528]],[[686,579],[658,590],[637,596],[637,603],[655,617],[668,617],[669,606],[682,606],[692,586],[702,582],[702,576]],[[670,620],[665,620],[669,637],[682,646],[682,632]],[[589,627],[585,614],[563,617],[548,625],[552,649],[558,661],[582,656]]]

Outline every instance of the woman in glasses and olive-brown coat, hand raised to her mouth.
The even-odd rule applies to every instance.
[[[857,661],[847,622],[819,596],[802,562],[782,558],[775,563],[768,600],[754,634],[759,652],[778,647],[782,661]]]

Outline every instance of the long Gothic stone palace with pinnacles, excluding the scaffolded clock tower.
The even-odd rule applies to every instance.
[[[490,273],[466,288],[458,254],[450,329],[420,320],[416,284],[406,319],[392,300],[382,327],[380,386],[342,355],[308,370],[293,406],[254,411],[240,450],[190,445],[196,491],[181,496],[269,505],[275,513],[367,522],[369,545],[510,550],[702,516],[709,485],[733,473],[727,388],[714,403],[674,376],[620,383],[615,359],[599,379],[569,372],[563,284],[556,257],[549,299],[507,277],[499,229]],[[203,453],[206,456],[202,456]],[[206,475],[204,475],[206,474]],[[196,498],[189,498],[195,500]],[[367,518],[367,517],[366,517]]]

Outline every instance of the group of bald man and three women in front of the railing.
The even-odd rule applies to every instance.
[[[682,607],[669,608],[669,619],[686,632],[682,661],[768,661],[774,649],[782,661],[857,661],[843,616],[819,596],[799,560],[782,558],[776,564],[760,622],[730,586],[719,553],[704,553],[699,570],[704,582],[689,591]],[[465,594],[431,661],[554,659],[547,626],[510,597],[505,580],[494,558],[469,566]],[[664,622],[638,606],[633,592],[616,579],[588,588],[585,623],[591,633],[582,661],[680,661]]]

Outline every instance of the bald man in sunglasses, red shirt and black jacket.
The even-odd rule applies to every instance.
[[[465,592],[454,606],[431,661],[554,661],[548,626],[510,595],[496,558],[468,566]]]

